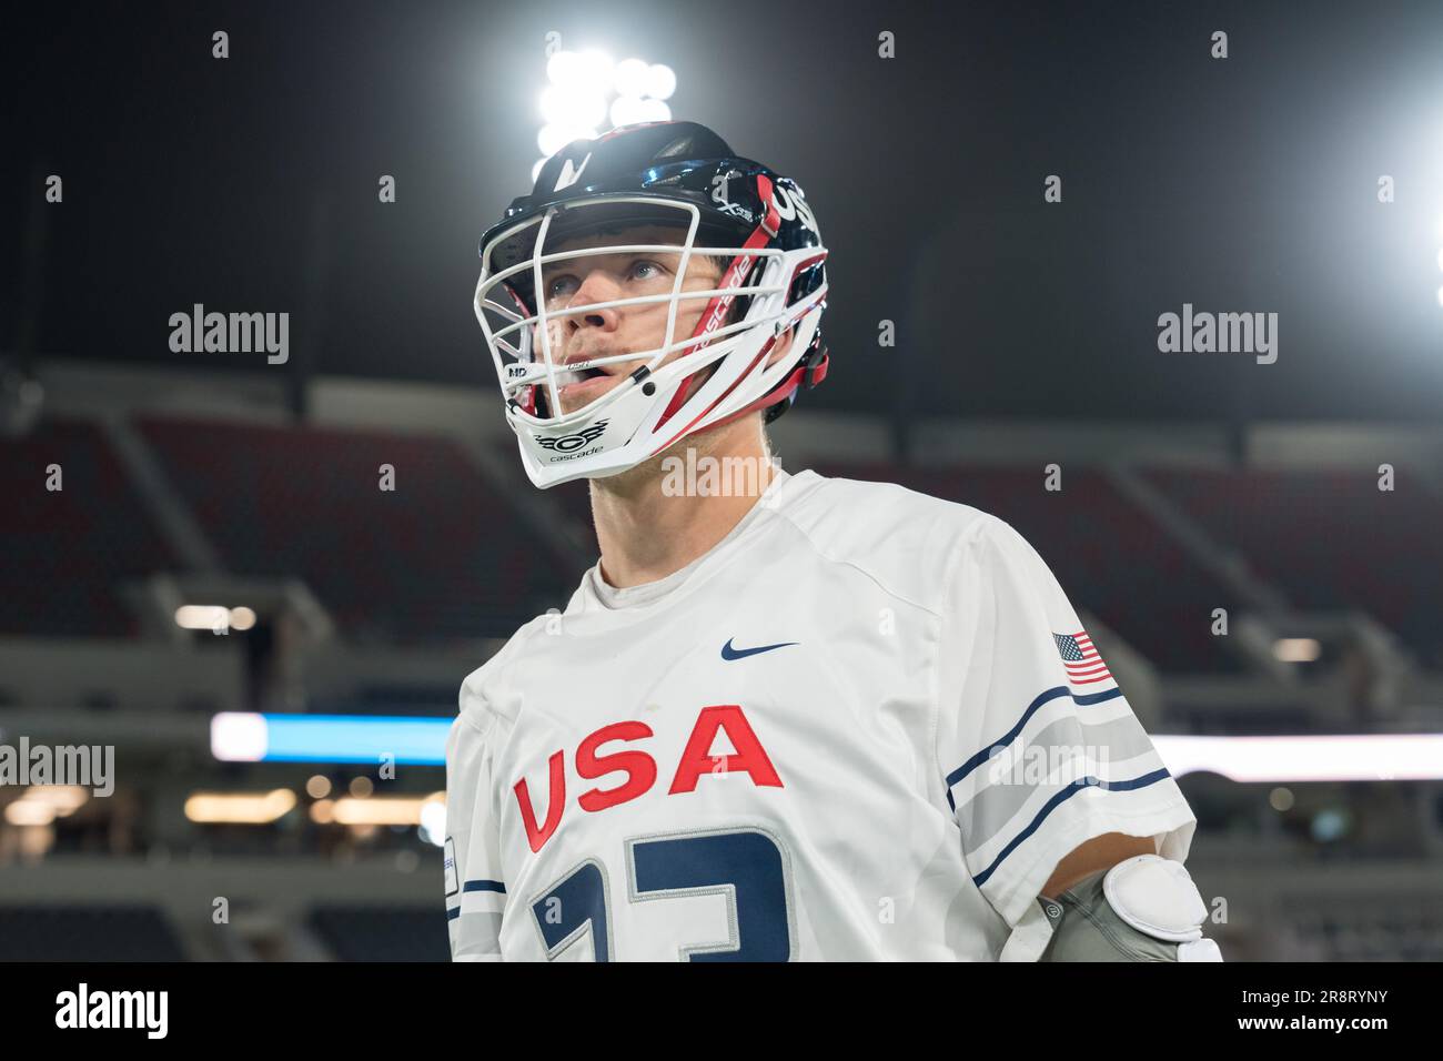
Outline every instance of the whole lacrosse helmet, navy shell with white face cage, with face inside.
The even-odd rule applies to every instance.
[[[602,238],[619,232],[638,241]],[[827,248],[805,193],[706,126],[567,144],[481,258],[473,309],[538,486],[616,475],[753,411],[773,420],[825,377]],[[584,437],[603,414],[605,435]]]

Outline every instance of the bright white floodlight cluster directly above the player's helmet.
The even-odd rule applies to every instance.
[[[573,140],[592,140],[610,128],[639,121],[671,121],[667,100],[677,91],[677,74],[665,64],[645,59],[610,61],[606,52],[560,51],[547,59],[547,81],[541,92],[537,133],[541,157],[531,167],[531,180],[545,160]]]

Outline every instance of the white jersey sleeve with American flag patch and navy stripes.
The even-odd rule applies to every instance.
[[[1196,818],[1048,564],[984,517],[952,567],[938,762],[983,896],[1016,933],[1058,862],[1104,833],[1182,862]]]

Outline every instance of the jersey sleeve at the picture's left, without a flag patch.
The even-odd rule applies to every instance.
[[[453,961],[499,961],[506,883],[492,790],[491,725],[465,712],[446,741],[446,922]]]

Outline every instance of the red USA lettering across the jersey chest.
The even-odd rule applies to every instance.
[[[703,707],[697,715],[697,722],[687,738],[687,746],[681,749],[681,759],[677,771],[671,777],[671,787],[667,795],[691,793],[697,787],[697,780],[703,774],[714,772],[717,756],[713,756],[711,746],[717,733],[724,730],[734,755],[726,756],[727,775],[746,774],[752,784],[772,788],[782,788],[782,778],[776,774],[776,767],[762,748],[760,739],[746,720],[746,713],[740,704],[726,703]],[[639,748],[599,755],[602,745],[615,741],[635,742],[654,736],[651,726],[645,722],[613,722],[602,726],[595,733],[582,739],[573,756],[577,775],[586,781],[595,781],[608,774],[625,774],[626,780],[612,788],[589,788],[576,797],[576,805],[587,814],[596,814],[609,807],[629,803],[639,795],[645,795],[657,784],[657,761]],[[512,787],[517,795],[517,805],[521,810],[521,824],[527,830],[527,843],[532,853],[540,852],[545,842],[561,824],[566,814],[566,752],[557,751],[547,759],[547,797],[545,820],[537,824],[537,811],[531,798],[531,790],[522,777]]]

